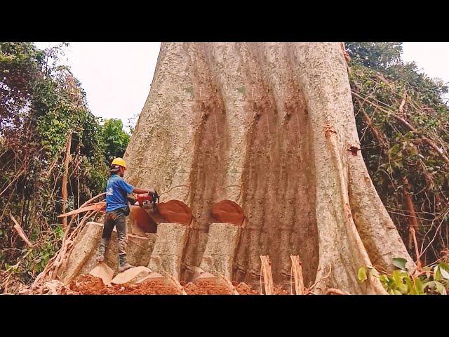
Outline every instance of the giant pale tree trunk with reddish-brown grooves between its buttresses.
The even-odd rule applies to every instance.
[[[359,147],[339,44],[162,44],[126,178],[192,209],[187,267],[201,262],[210,207],[229,199],[246,216],[237,281],[259,278],[260,255],[289,280],[299,255],[305,286],[384,293],[358,268],[414,263]]]

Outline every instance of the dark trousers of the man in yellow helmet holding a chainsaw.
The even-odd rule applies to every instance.
[[[101,235],[100,254],[105,253],[114,226],[117,229],[119,265],[124,265],[126,263],[126,243],[128,237],[126,236],[126,216],[122,209],[116,209],[106,213],[105,225],[103,226]]]

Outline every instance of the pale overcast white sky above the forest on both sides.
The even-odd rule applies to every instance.
[[[55,44],[39,42],[36,46]],[[147,100],[160,46],[159,42],[74,42],[66,48],[65,64],[81,81],[93,114],[119,118],[127,125]],[[415,61],[430,77],[449,82],[447,42],[406,42],[403,60]]]

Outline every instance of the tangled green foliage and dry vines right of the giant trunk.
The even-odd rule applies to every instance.
[[[449,107],[443,96],[448,87],[419,72],[415,63],[403,62],[400,43],[351,42],[346,46],[351,55],[351,91],[362,97],[353,95],[353,103],[368,172],[414,256],[405,197],[410,195],[419,225],[417,241],[424,248],[421,258],[431,263],[448,249],[449,164],[422,136],[449,157]],[[410,131],[401,119],[417,132]]]

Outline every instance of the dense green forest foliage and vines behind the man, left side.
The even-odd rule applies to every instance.
[[[60,247],[56,216],[69,135],[68,210],[104,190],[109,157],[122,155],[129,141],[120,120],[101,125],[79,81],[58,65],[65,46],[39,51],[30,43],[0,43],[0,270],[9,268],[23,282]],[[13,230],[10,213],[33,247]]]

